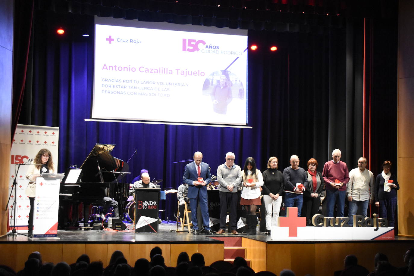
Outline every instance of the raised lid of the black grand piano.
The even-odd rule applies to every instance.
[[[128,170],[128,166],[125,166],[125,162],[115,158],[111,155],[111,151],[115,145],[109,144],[96,144],[91,153],[83,162],[81,182],[101,182],[98,170],[101,168],[103,182],[112,182],[116,178],[122,178],[123,174],[113,173],[113,171],[120,172],[123,169]],[[128,165],[128,164],[126,164]]]

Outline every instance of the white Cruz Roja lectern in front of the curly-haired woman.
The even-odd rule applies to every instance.
[[[36,178],[33,237],[58,236],[59,189],[63,173],[43,173]]]

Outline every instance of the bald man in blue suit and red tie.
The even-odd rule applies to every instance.
[[[203,154],[200,151],[194,153],[194,162],[185,165],[183,182],[188,185],[188,198],[190,199],[191,220],[193,222],[194,235],[199,235],[197,222],[197,201],[200,204],[202,223],[205,235],[212,235],[210,231],[210,218],[207,204],[207,186],[211,182],[211,173],[207,163],[201,162]],[[198,182],[198,178],[203,178]]]

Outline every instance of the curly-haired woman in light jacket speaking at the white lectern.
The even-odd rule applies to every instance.
[[[33,212],[34,212],[34,197],[36,196],[36,178],[42,173],[54,173],[52,153],[48,149],[41,149],[27,170],[26,178],[29,179],[29,184],[26,188],[26,195],[30,200],[29,213],[29,237],[33,237]]]

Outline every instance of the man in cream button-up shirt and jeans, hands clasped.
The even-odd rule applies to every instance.
[[[349,202],[348,216],[349,225],[353,226],[354,215],[367,216],[368,204],[374,198],[374,175],[366,169],[367,161],[365,157],[358,159],[358,168],[349,172],[349,182],[347,183],[347,197]]]

